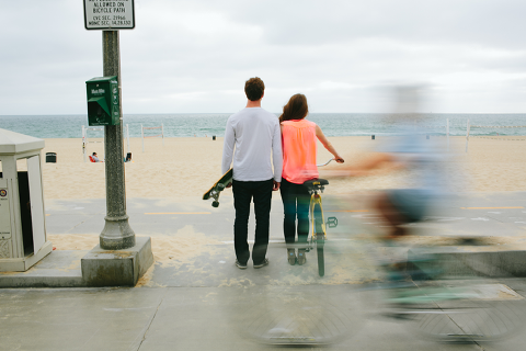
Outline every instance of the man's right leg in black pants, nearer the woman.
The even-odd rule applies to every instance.
[[[252,261],[260,264],[265,260],[268,247],[268,225],[271,217],[273,180],[253,182],[255,239],[252,249]]]

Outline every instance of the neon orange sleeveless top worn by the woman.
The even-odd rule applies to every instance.
[[[307,120],[282,122],[283,173],[290,183],[318,178],[316,123]]]

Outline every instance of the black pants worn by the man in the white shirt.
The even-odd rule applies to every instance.
[[[236,257],[241,264],[247,264],[250,258],[249,251],[249,215],[250,202],[254,200],[255,213],[255,239],[252,248],[252,261],[254,264],[263,262],[268,247],[268,224],[271,217],[273,181],[232,181],[233,206],[236,207],[236,220],[233,223],[233,247]]]

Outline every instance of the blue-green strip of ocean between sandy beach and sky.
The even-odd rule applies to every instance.
[[[163,125],[165,137],[224,136],[229,113],[213,114],[127,114],[124,125],[129,127],[130,137],[140,137],[141,128]],[[276,114],[277,116],[278,114]],[[366,113],[312,113],[308,120],[317,123],[325,136],[389,135],[392,131],[392,114]],[[491,127],[471,127],[470,135],[518,136],[526,135],[526,114],[423,114],[421,124],[425,133],[446,135],[449,120],[449,135],[466,135],[467,123]],[[81,138],[82,125],[88,126],[87,115],[0,115],[0,128],[31,135],[38,138]],[[501,126],[496,128],[495,126]],[[503,128],[502,126],[522,126]],[[145,135],[158,134],[159,129],[146,129]],[[103,137],[103,132],[90,131],[90,138]]]

